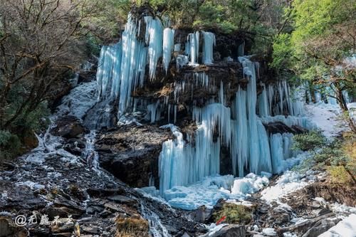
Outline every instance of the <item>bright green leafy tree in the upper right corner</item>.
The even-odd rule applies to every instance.
[[[355,11],[353,0],[294,1],[289,17],[293,28],[274,38],[271,66],[280,75],[288,70],[302,83],[308,81],[320,89],[352,91],[355,67],[348,67],[344,60],[356,51]],[[336,96],[342,110],[347,110],[341,93],[325,91],[325,95]]]

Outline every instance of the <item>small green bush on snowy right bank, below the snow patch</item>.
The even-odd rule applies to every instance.
[[[294,150],[308,151],[318,147],[323,147],[326,144],[326,139],[318,130],[293,136]]]

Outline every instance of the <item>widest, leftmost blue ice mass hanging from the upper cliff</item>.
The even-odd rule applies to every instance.
[[[137,41],[137,22],[129,14],[122,39],[113,46],[103,46],[98,63],[98,96],[101,99],[119,98],[118,116],[130,104],[131,92],[143,85],[147,48]]]

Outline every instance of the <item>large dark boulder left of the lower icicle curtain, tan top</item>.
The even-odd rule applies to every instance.
[[[158,157],[162,143],[172,138],[169,130],[132,125],[98,137],[96,148],[101,167],[130,186],[149,186],[153,177],[158,187]]]

